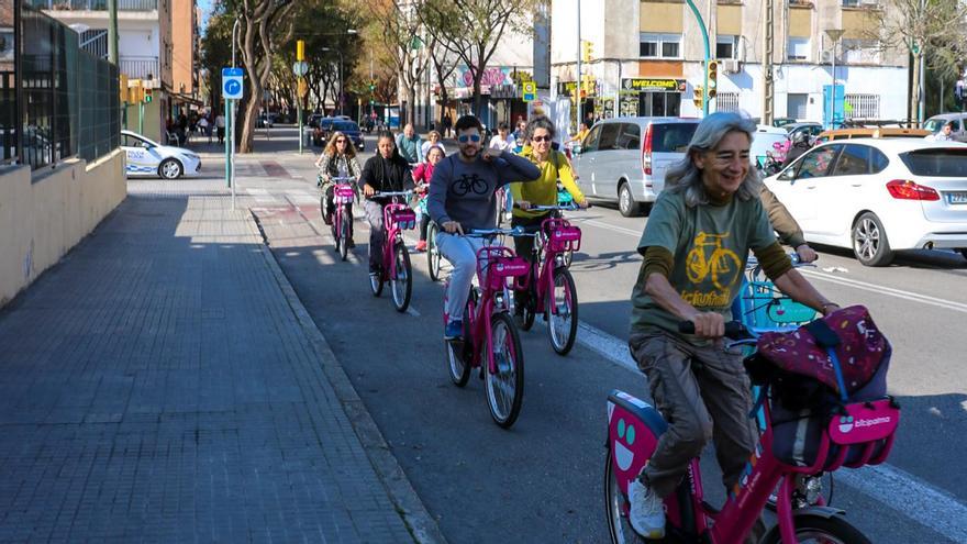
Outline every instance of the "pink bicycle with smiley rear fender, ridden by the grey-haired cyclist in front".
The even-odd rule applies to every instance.
[[[679,329],[683,333],[694,332],[691,322],[681,323]],[[737,322],[726,323],[725,335],[738,338],[733,345],[754,345],[756,342]],[[774,395],[770,390],[769,397],[774,399]],[[897,402],[882,396],[876,400],[838,404],[836,412],[821,419],[816,432],[809,434],[815,438],[815,451],[808,466],[793,466],[776,457],[774,424],[787,422],[774,420],[776,415],[769,402],[763,408],[765,430],[725,504],[715,510],[703,500],[699,459],[692,459],[677,491],[665,499],[666,536],[663,542],[742,542],[778,485],[778,524],[762,537],[760,544],[869,544],[870,541],[843,518],[843,510],[825,506],[822,498],[816,504],[797,508],[793,496],[797,480],[803,475],[886,460],[899,424]],[[614,543],[651,542],[641,539],[631,528],[627,486],[655,452],[667,423],[653,406],[619,390],[608,396],[608,421],[604,498],[611,540]]]

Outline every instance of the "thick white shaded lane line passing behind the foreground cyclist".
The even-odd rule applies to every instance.
[[[578,323],[577,340],[610,363],[640,374],[626,342],[585,322]],[[962,406],[967,410],[967,401]],[[967,542],[967,504],[912,474],[883,464],[840,470],[835,479],[954,542]]]

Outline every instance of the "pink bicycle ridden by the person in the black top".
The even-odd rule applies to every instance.
[[[382,209],[382,224],[386,242],[382,244],[382,266],[379,275],[369,276],[369,288],[374,297],[382,293],[382,286],[390,285],[393,308],[402,313],[410,307],[413,293],[413,268],[410,266],[410,252],[403,242],[403,230],[416,227],[416,213],[405,203],[412,191],[376,192],[370,199],[389,198],[392,201]],[[373,248],[370,247],[371,252]]]

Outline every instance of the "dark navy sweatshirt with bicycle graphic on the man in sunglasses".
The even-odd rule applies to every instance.
[[[441,160],[433,168],[426,209],[437,224],[447,221],[469,229],[493,229],[497,225],[497,206],[493,192],[512,181],[535,181],[541,170],[524,157],[504,152],[491,162],[477,158],[460,160],[457,154]]]

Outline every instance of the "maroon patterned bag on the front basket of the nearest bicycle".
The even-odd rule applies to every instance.
[[[845,414],[847,404],[887,398],[892,348],[865,307],[844,308],[792,332],[765,333],[757,345],[745,367],[762,387],[755,411],[768,395],[773,455],[782,463],[813,466],[834,417]],[[883,438],[876,448],[888,443]],[[840,447],[851,448],[846,464],[864,452],[862,445],[831,444],[826,459]]]

